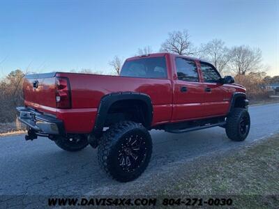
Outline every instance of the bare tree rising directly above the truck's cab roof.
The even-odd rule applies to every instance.
[[[193,44],[190,42],[190,35],[186,30],[169,33],[169,37],[161,45],[160,51],[181,55],[197,54],[195,49],[193,49]]]

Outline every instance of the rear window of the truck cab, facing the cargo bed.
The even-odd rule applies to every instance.
[[[165,56],[126,61],[122,67],[120,76],[167,78]]]

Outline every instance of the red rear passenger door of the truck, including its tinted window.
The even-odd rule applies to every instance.
[[[186,121],[204,115],[204,88],[199,82],[196,62],[177,56],[174,61],[174,106],[172,121]]]

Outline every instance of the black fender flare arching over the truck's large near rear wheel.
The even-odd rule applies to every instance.
[[[151,123],[153,120],[153,105],[151,102],[151,98],[149,95],[145,93],[137,93],[137,92],[117,92],[117,93],[110,93],[107,95],[104,95],[103,98],[100,100],[100,104],[98,107],[95,125],[93,127],[93,132],[98,134],[103,131],[103,127],[105,125],[105,119],[107,116],[107,113],[114,104],[114,102],[118,102],[121,100],[140,100],[146,104],[147,109],[144,111],[147,111],[147,118],[145,121],[144,127],[149,128],[151,127]]]

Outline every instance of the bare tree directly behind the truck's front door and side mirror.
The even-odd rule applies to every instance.
[[[199,52],[200,57],[215,65],[220,73],[227,68],[230,56],[229,49],[225,47],[225,42],[223,42],[223,40],[213,39],[202,45]]]

